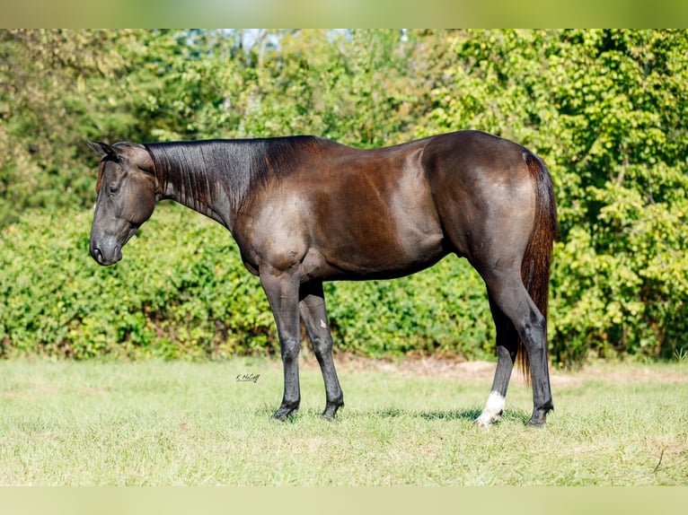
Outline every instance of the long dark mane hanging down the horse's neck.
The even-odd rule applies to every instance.
[[[314,136],[151,143],[159,188],[172,185],[194,209],[205,212],[223,188],[235,212],[256,184],[282,177],[301,161]]]

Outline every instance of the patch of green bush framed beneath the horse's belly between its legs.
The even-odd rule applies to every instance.
[[[338,347],[362,355],[492,354],[485,286],[465,260],[394,281],[328,284]]]

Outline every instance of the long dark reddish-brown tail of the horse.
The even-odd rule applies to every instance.
[[[550,297],[550,265],[552,245],[557,237],[557,205],[551,176],[544,161],[525,153],[525,163],[530,170],[535,188],[534,229],[525,249],[521,278],[525,289],[545,319],[545,341],[547,336],[547,307]],[[525,345],[518,339],[518,362],[526,383],[530,383],[530,362]]]

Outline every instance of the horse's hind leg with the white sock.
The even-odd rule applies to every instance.
[[[475,423],[489,427],[490,423],[498,421],[504,413],[505,398],[511,371],[516,361],[518,351],[518,335],[511,320],[502,312],[490,295],[490,310],[495,327],[497,327],[497,371],[492,381],[490,397]]]

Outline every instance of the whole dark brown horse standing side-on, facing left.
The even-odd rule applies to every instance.
[[[311,136],[90,145],[102,158],[91,231],[101,265],[121,259],[161,199],[232,232],[277,322],[284,397],[276,418],[301,399],[300,320],[322,368],[323,415],[344,404],[323,281],[409,275],[454,253],[484,279],[497,327],[497,371],[476,422],[502,415],[519,354],[533,385],[529,424],[545,422],[556,207],[547,168],[523,146],[476,131],[375,150]]]

